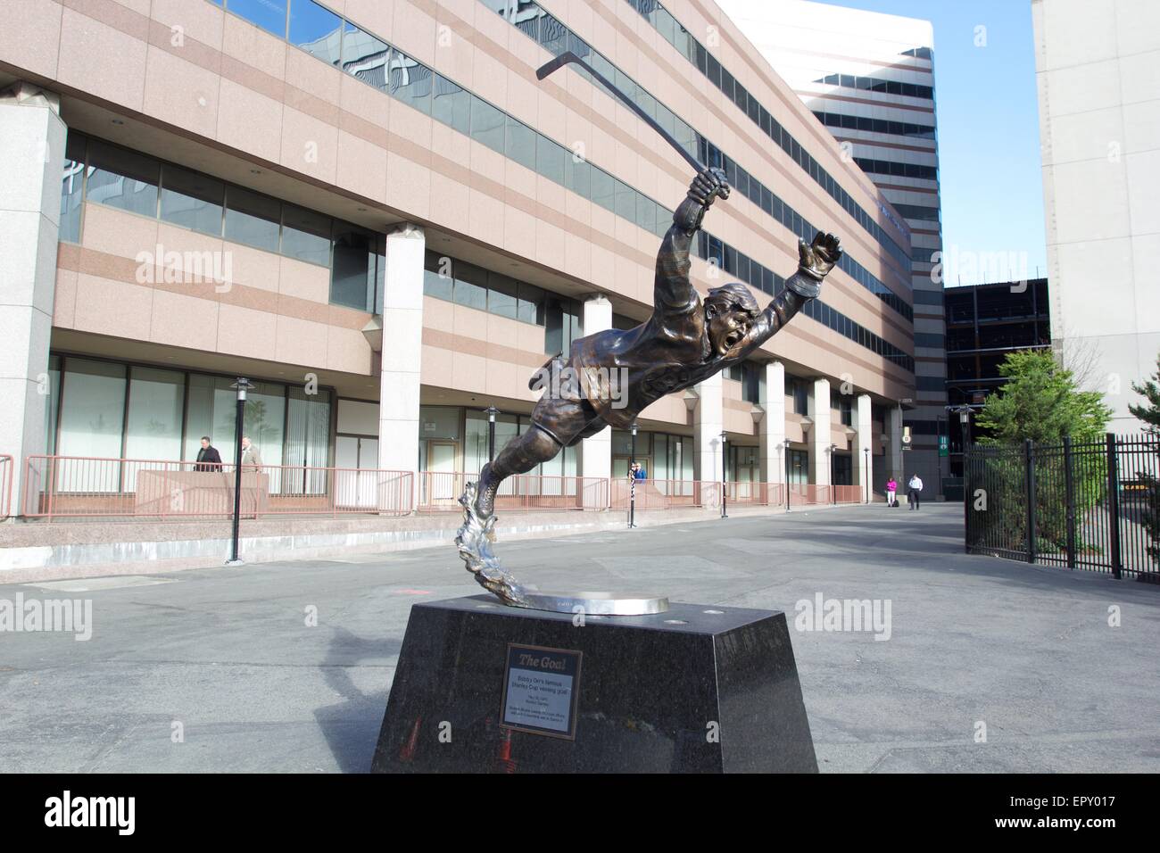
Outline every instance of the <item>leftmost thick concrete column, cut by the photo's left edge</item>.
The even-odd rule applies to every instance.
[[[67,128],[56,94],[16,82],[0,93],[0,454],[13,457],[10,512],[20,514],[24,460],[46,449]]]

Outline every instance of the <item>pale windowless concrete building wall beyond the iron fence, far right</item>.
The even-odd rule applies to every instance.
[[[1160,6],[1032,0],[1052,344],[1137,433],[1160,354]]]

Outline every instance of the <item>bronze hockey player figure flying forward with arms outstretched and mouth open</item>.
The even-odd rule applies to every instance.
[[[652,316],[635,328],[580,338],[566,356],[549,362],[532,378],[532,389],[546,389],[531,412],[532,428],[509,441],[459,499],[466,509],[456,540],[461,556],[477,580],[505,602],[528,606],[524,588],[499,568],[487,544],[500,483],[607,426],[630,426],[666,393],[742,361],[821,292],[822,279],[841,258],[838,239],[819,233],[809,246],[799,241],[797,273],[764,311],[740,283],[713,288],[702,301],[689,281],[689,247],[705,211],[728,194],[720,169],[703,169],[694,178],[657,255]],[[545,374],[561,373],[579,382],[546,381]],[[616,376],[626,383],[614,395],[608,378]]]

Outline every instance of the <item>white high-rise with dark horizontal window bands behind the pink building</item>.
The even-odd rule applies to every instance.
[[[840,153],[875,182],[911,236],[915,392],[905,414],[914,436],[906,458],[941,493],[937,455],[945,424],[942,250],[934,29],[929,21],[807,0],[720,0]]]

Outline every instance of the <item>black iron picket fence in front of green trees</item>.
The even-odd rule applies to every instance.
[[[1160,436],[966,453],[966,551],[1160,583]]]

